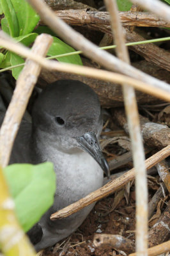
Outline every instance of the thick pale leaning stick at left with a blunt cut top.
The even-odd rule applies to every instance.
[[[52,36],[42,34],[37,36],[31,50],[32,54],[45,56],[52,44]],[[10,160],[13,142],[19,130],[22,116],[26,110],[27,102],[40,74],[41,66],[31,60],[26,60],[26,65],[20,73],[10,105],[4,116],[0,130],[0,163],[4,167]]]

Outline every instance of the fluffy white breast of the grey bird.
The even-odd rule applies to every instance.
[[[72,204],[102,186],[103,170],[88,153],[60,152],[59,155],[53,163],[57,177],[56,198],[62,198],[63,204],[60,207]]]

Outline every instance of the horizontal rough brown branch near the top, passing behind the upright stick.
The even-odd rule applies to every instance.
[[[109,12],[87,12],[83,10],[59,10],[55,12],[60,19],[65,20],[70,26],[82,26],[88,24],[97,24],[99,26],[110,25]],[[148,12],[119,12],[120,20],[123,26],[139,27],[160,27],[169,28],[170,22],[160,19],[157,15]],[[40,22],[43,24],[43,21]]]

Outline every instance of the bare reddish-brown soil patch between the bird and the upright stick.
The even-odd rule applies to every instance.
[[[119,234],[134,241],[135,230],[135,201],[134,191],[130,195],[130,202],[121,200],[116,210],[111,210],[114,196],[100,200],[82,223],[81,227],[68,237],[43,251],[43,256],[109,256],[122,255],[111,248],[96,248],[93,244],[94,234]],[[66,250],[66,251],[65,251]],[[63,251],[63,252],[62,252]],[[123,252],[122,252],[123,253]],[[123,254],[125,255],[125,254]]]

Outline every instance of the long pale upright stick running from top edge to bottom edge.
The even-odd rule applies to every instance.
[[[115,0],[105,0],[105,5],[111,14],[111,28],[114,33],[114,42],[117,45],[118,57],[130,63],[128,51],[125,47],[123,29],[121,27],[118,8]],[[137,255],[147,255],[148,248],[148,188],[146,168],[144,165],[144,147],[139,124],[137,102],[134,88],[123,84],[123,97],[127,113],[128,127],[132,141],[132,156],[135,168],[135,194],[136,194],[136,251]]]

